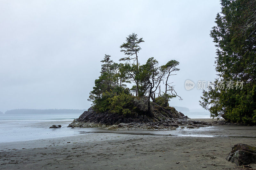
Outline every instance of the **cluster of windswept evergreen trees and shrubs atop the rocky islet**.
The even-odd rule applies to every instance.
[[[106,54],[100,61],[102,63],[100,77],[95,80],[95,86],[88,99],[98,112],[111,110],[113,113],[125,116],[150,115],[152,102],[155,103],[157,100],[157,105],[168,107],[168,101],[177,96],[176,92],[176,95],[167,92],[170,90],[169,87],[172,87],[171,92],[174,90],[174,87],[169,85],[168,78],[175,75],[171,74],[173,71],[180,70],[176,67],[179,62],[171,60],[165,65],[159,66],[158,61],[151,57],[141,65],[138,59],[141,42],[144,42],[143,39],[132,33],[120,46],[125,57],[119,61],[124,63],[114,63],[111,56]],[[159,87],[163,82],[169,86],[161,95]],[[132,86],[131,89],[127,87],[129,84]],[[158,92],[158,97],[155,100],[156,92]],[[160,98],[163,100],[159,100]]]

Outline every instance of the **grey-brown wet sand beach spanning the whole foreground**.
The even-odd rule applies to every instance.
[[[76,136],[1,143],[0,168],[235,169],[225,158],[238,143],[255,146],[256,127],[87,129]]]

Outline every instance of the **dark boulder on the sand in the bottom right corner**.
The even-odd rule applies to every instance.
[[[226,158],[237,166],[256,163],[256,147],[247,144],[236,144]]]

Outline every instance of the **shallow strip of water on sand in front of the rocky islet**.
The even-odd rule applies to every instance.
[[[186,127],[186,126],[185,126]],[[79,128],[75,128],[79,129]],[[151,129],[137,129],[137,130],[105,130],[100,128],[80,129],[81,134],[90,133],[115,133],[115,134],[129,134],[129,135],[152,135],[152,136],[176,136],[176,137],[240,137],[240,138],[256,138],[256,127],[237,126],[237,125],[223,125],[223,126],[208,126],[200,127],[199,129],[181,129],[176,130],[151,130]],[[89,131],[88,131],[89,130]],[[236,134],[236,135],[234,135]]]

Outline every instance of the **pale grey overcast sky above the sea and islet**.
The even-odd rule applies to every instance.
[[[105,54],[124,57],[125,37],[143,37],[139,61],[180,62],[171,77],[182,101],[201,108],[202,90],[186,79],[213,80],[215,47],[209,36],[220,2],[0,0],[0,111],[90,107],[87,101]]]

